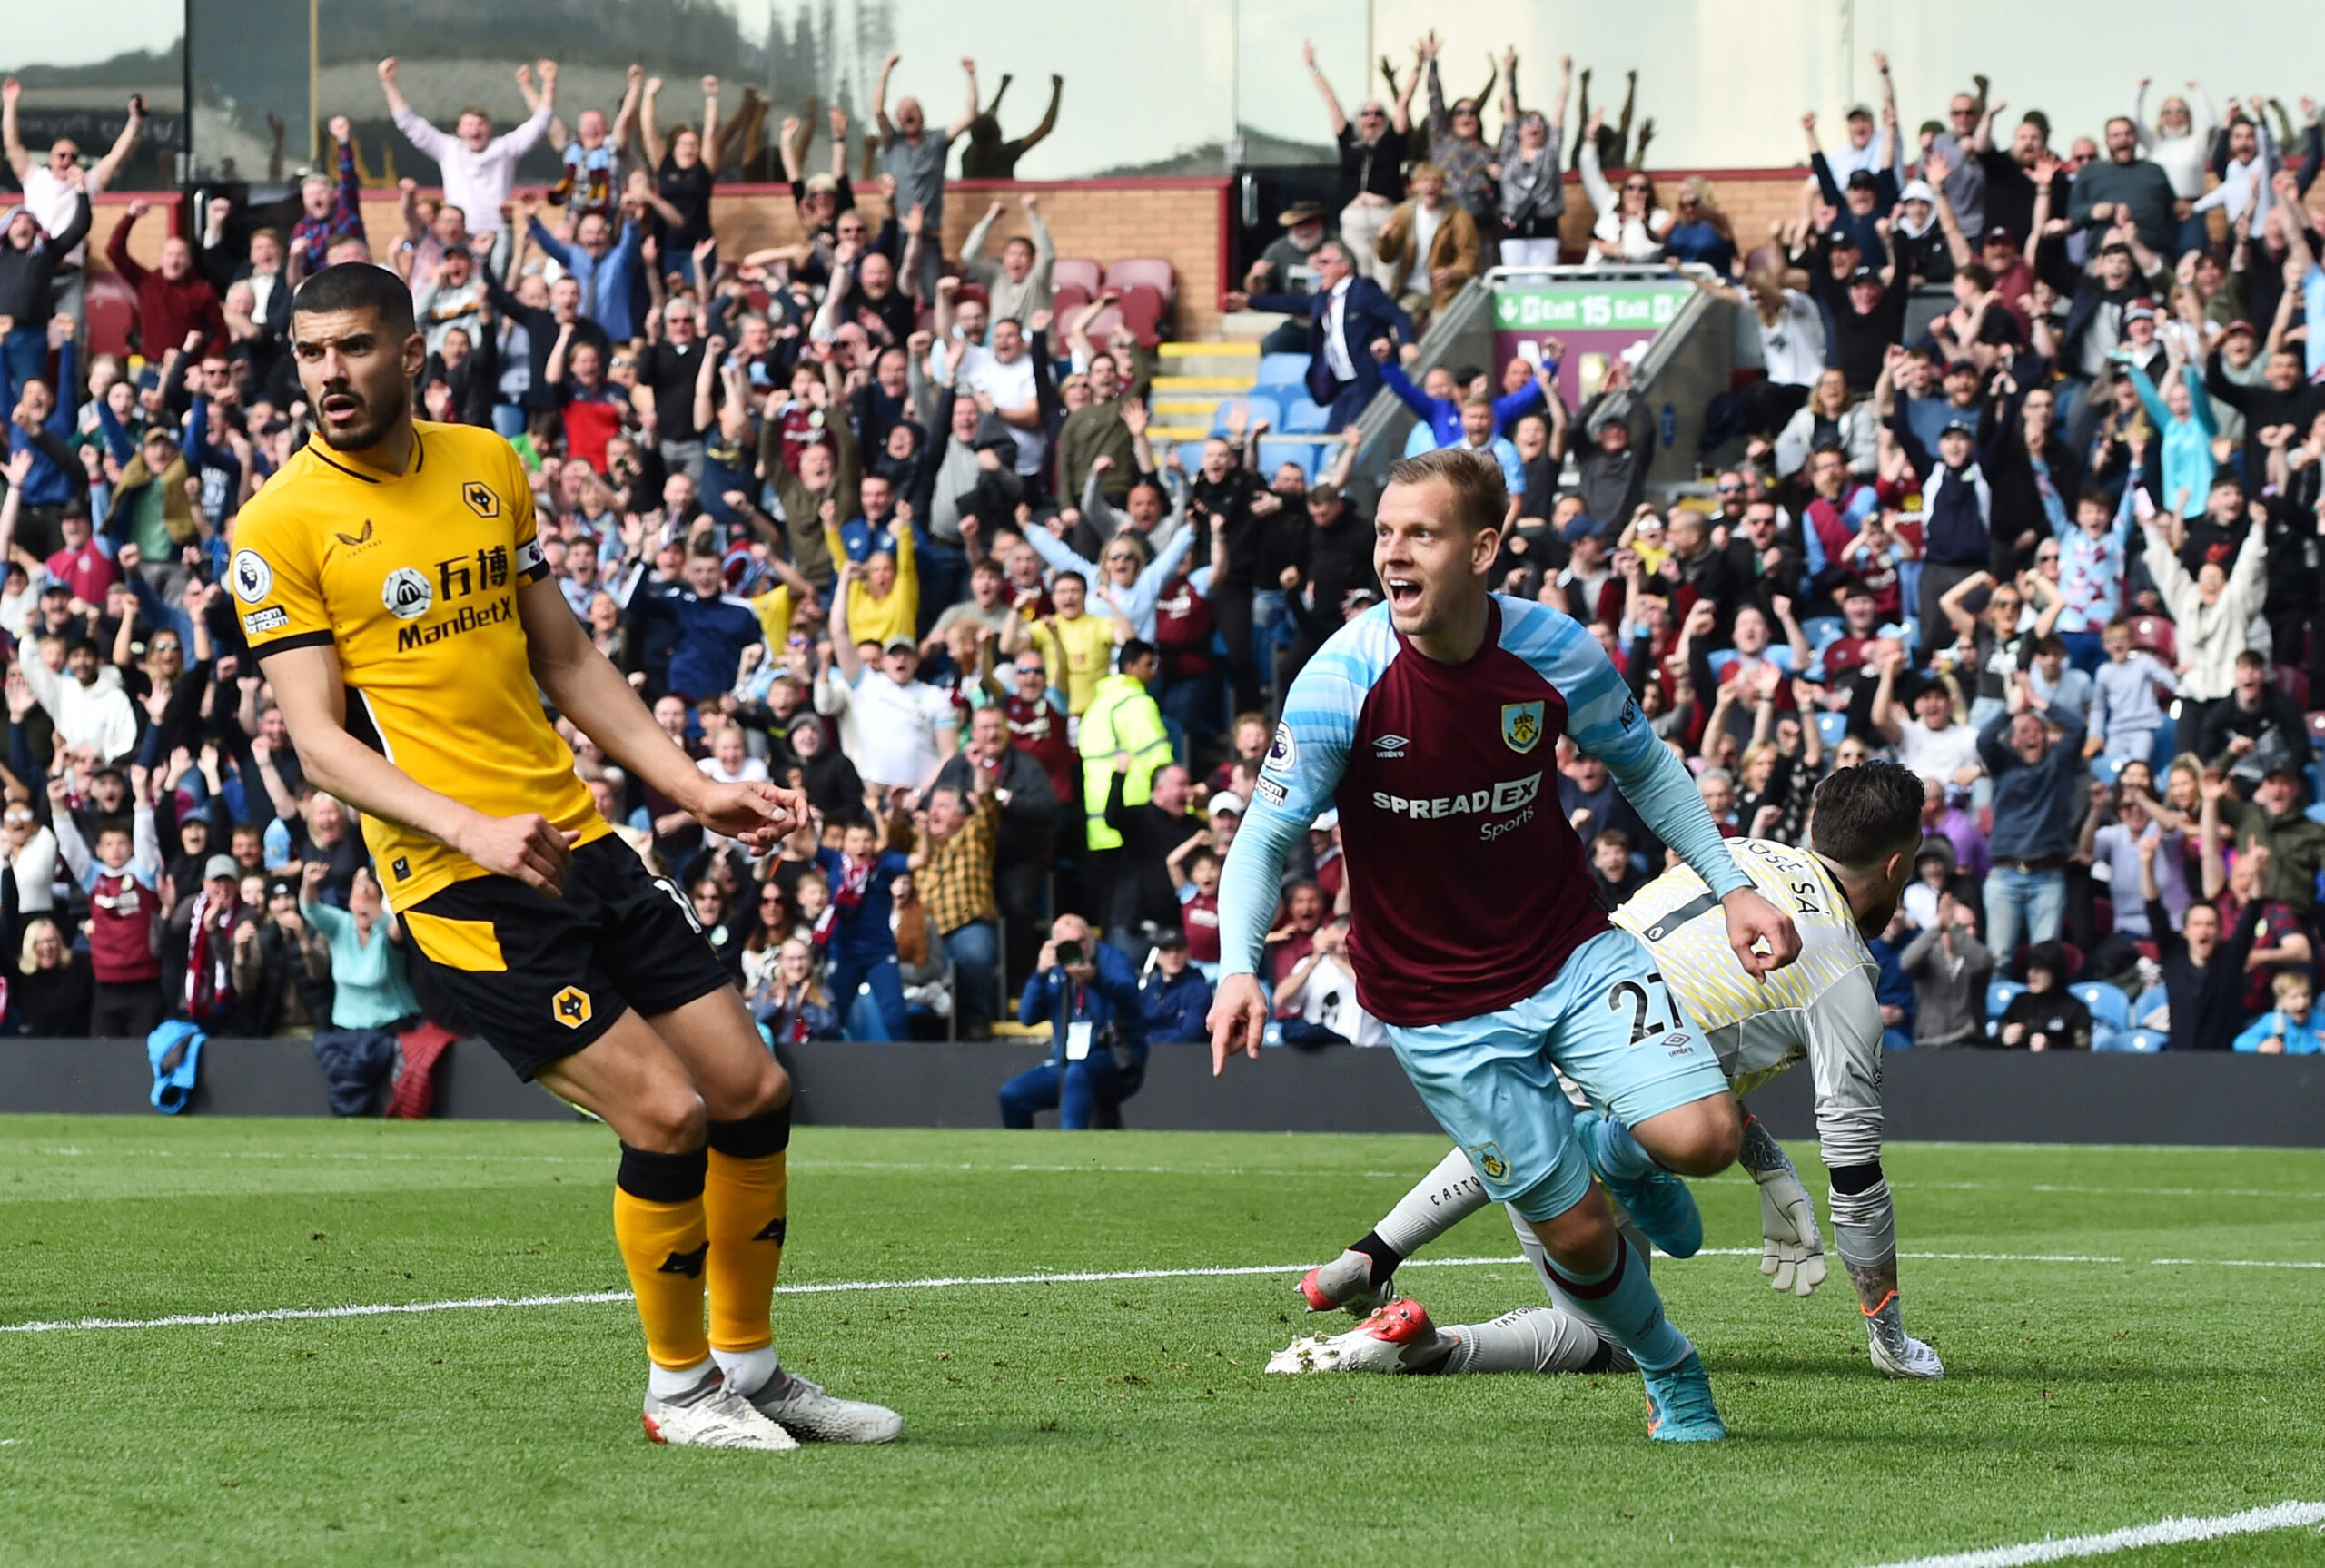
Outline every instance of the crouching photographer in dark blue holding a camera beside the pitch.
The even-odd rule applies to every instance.
[[[1090,936],[1081,915],[1058,915],[1042,957],[1018,997],[1018,1022],[1049,1022],[1049,1062],[1002,1085],[1002,1127],[1032,1127],[1037,1110],[1058,1110],[1058,1127],[1095,1127],[1146,1078],[1146,1024],[1139,976],[1121,948]],[[1114,1117],[1107,1117],[1109,1122]]]

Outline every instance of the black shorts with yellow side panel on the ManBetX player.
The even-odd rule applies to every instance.
[[[574,850],[565,897],[474,876],[400,911],[432,980],[518,1078],[728,985],[695,913],[614,834]]]

